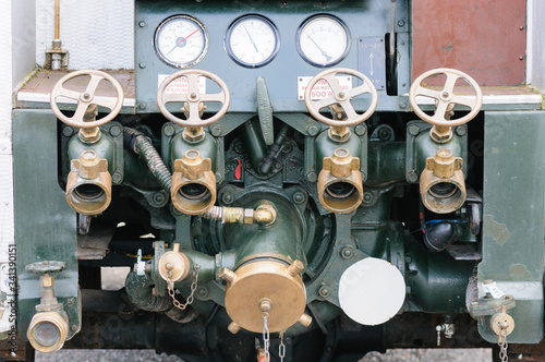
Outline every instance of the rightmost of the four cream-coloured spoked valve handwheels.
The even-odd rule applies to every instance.
[[[447,81],[445,82],[445,86],[441,90],[426,88],[421,85],[422,81],[425,79],[439,74],[445,74],[447,76]],[[474,93],[474,99],[473,96],[468,97],[455,94],[455,85],[459,79],[462,79],[465,83],[471,85]],[[437,101],[434,116],[426,114],[416,104],[416,96],[434,98]],[[421,74],[413,82],[411,89],[409,90],[409,102],[411,104],[411,107],[416,116],[419,116],[422,120],[437,126],[453,126],[471,121],[479,113],[481,106],[483,105],[483,93],[481,92],[481,87],[475,80],[468,74],[456,69],[438,68]],[[448,120],[445,113],[451,104],[469,107],[471,111],[462,118]]]

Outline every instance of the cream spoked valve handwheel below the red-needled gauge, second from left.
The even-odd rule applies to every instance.
[[[167,93],[167,87],[177,79],[187,77],[187,92],[186,93]],[[215,82],[220,87],[219,93],[202,94],[198,92],[198,77],[204,76]],[[157,89],[157,105],[161,113],[171,122],[183,126],[205,126],[218,121],[227,112],[231,96],[227,84],[221,81],[219,76],[214,73],[202,70],[183,70],[171,74],[167,77],[159,89]],[[221,108],[210,118],[202,119],[199,114],[199,104],[202,102],[220,102]],[[187,119],[183,120],[175,117],[167,109],[169,102],[186,102],[189,105]]]

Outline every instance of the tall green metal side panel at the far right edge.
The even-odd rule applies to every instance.
[[[517,306],[510,342],[543,337],[545,112],[487,112],[484,140],[483,261],[479,281],[494,279]],[[498,337],[480,324],[491,342]]]

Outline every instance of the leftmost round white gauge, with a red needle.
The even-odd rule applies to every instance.
[[[208,33],[194,17],[174,15],[155,31],[155,52],[165,63],[187,68],[198,63],[208,50]]]

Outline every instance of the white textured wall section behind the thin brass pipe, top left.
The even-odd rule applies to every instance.
[[[60,4],[60,38],[70,52],[70,69],[134,68],[134,0]],[[55,1],[36,0],[36,62],[41,65],[55,36]]]

